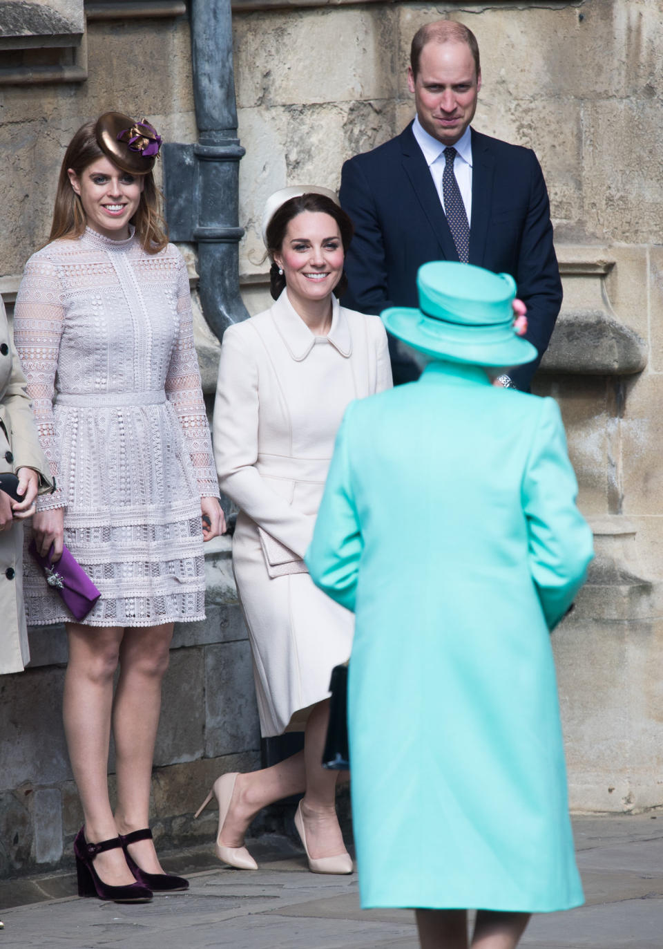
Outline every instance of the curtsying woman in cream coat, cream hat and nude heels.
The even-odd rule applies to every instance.
[[[264,771],[227,774],[220,859],[254,868],[243,847],[254,814],[304,791],[295,817],[314,872],[348,873],[334,797],[322,769],[329,677],[347,659],[352,615],[310,580],[311,539],[345,407],[392,384],[378,317],[339,306],[350,219],[332,192],[285,188],[267,202],[273,307],[226,330],[213,441],[222,490],[239,506],[232,557],[249,628],[262,734],[304,729],[304,752]],[[207,803],[207,802],[206,802]]]

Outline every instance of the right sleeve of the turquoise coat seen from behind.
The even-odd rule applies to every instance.
[[[578,484],[557,403],[542,400],[523,480],[529,568],[549,629],[562,620],[594,556],[592,531],[576,507]]]

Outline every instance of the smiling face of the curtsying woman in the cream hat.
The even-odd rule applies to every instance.
[[[343,272],[341,230],[330,214],[303,211],[289,222],[281,251],[274,261],[285,275],[287,293],[297,309],[302,301],[331,295]]]

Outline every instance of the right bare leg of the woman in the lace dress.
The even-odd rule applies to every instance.
[[[118,774],[115,823],[119,833],[149,826],[152,759],[161,710],[161,681],[168,668],[173,623],[127,629],[120,646],[120,679],[113,703]],[[129,846],[138,866],[162,873],[151,840]]]

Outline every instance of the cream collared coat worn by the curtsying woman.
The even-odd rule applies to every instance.
[[[391,384],[380,320],[336,298],[326,337],[311,333],[285,290],[224,334],[214,456],[222,491],[241,509],[232,563],[264,736],[301,729],[350,655],[352,613],[312,584],[300,558],[346,406]]]

